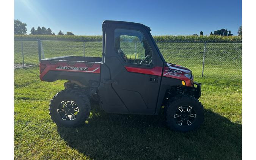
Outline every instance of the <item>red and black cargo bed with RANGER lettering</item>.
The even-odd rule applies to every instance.
[[[60,56],[45,58],[39,64],[40,79],[47,82],[75,80],[89,85],[99,81],[101,63],[101,57]]]

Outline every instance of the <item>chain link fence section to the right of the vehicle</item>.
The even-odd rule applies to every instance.
[[[167,62],[196,76],[242,79],[241,42],[157,42]]]

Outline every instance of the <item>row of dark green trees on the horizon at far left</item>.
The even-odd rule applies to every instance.
[[[14,35],[27,35],[27,24],[21,22],[19,19],[14,20]],[[30,30],[30,35],[55,35],[55,33],[52,32],[51,28],[45,28],[38,26],[36,29],[34,27]],[[59,31],[58,35],[69,35],[74,36],[72,32],[67,32],[64,34],[61,30]]]

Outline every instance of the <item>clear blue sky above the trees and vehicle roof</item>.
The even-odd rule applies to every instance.
[[[138,22],[152,35],[204,35],[225,28],[237,35],[242,0],[15,0],[14,19],[75,35],[101,35],[104,20]]]

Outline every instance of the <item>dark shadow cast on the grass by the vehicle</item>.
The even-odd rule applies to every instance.
[[[206,110],[203,125],[181,133],[158,116],[108,114],[94,107],[83,127],[58,127],[67,144],[94,159],[240,159],[242,125]]]

